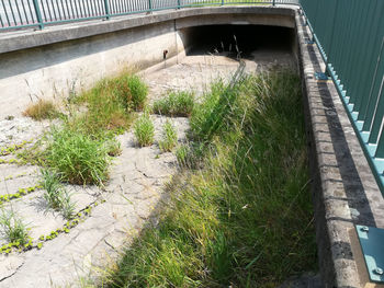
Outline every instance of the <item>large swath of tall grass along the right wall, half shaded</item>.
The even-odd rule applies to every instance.
[[[125,251],[110,287],[276,287],[314,268],[300,91],[287,71],[212,87],[178,150],[193,169],[168,185],[159,224]]]

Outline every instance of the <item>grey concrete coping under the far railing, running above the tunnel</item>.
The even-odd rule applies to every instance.
[[[199,23],[196,16],[214,15],[211,19],[215,20],[219,14],[252,14],[262,16],[264,24],[270,25],[271,19],[269,15],[274,16],[289,16],[293,19],[294,10],[286,8],[272,8],[272,7],[206,7],[206,8],[192,8],[181,10],[165,10],[155,12],[153,14],[136,14],[121,18],[113,18],[109,21],[87,21],[78,22],[66,25],[47,26],[42,31],[22,31],[10,32],[0,34],[0,54],[14,50],[21,50],[32,47],[39,47],[54,43],[60,43],[66,41],[79,39],[89,36],[95,36],[100,34],[117,32],[122,30],[128,30],[138,26],[145,26],[150,24],[157,24],[166,21],[174,21],[178,19],[192,18],[194,25]],[[230,20],[230,19],[229,19]],[[227,21],[229,21],[227,20]],[[276,19],[276,24],[279,24]],[[285,19],[285,22],[287,20]],[[293,22],[293,21],[292,21]],[[260,21],[260,24],[263,22]],[[230,21],[227,24],[231,24]],[[282,23],[281,25],[285,25]]]

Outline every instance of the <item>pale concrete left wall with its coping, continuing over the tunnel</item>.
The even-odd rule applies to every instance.
[[[292,15],[292,10],[267,7],[200,8],[0,34],[0,117],[19,115],[41,97],[65,97],[124,68],[174,64],[188,49],[188,27],[293,27]]]

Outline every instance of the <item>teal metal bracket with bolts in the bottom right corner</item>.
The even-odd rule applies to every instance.
[[[355,226],[371,281],[384,284],[384,229]]]

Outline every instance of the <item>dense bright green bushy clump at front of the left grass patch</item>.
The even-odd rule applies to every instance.
[[[109,177],[110,158],[102,140],[67,127],[54,129],[46,149],[47,164],[61,181],[102,185]]]

